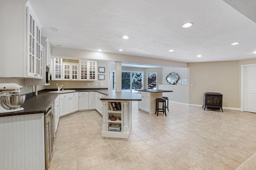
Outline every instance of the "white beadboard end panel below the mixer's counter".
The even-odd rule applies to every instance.
[[[0,117],[0,170],[44,170],[44,113]]]

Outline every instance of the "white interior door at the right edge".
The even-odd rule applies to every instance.
[[[244,99],[244,111],[256,113],[256,66],[245,69]]]

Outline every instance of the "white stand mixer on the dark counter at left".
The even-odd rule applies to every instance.
[[[7,97],[12,97],[12,95],[14,95],[15,97],[15,94],[18,94],[20,93],[20,89],[22,89],[23,87],[16,84],[16,83],[0,83],[0,113],[9,113],[9,112],[14,112],[14,111],[21,111],[21,110],[24,110],[23,107],[19,107],[18,108],[10,108],[8,106],[6,106],[6,104],[4,103],[3,101],[3,98],[5,96]],[[22,95],[22,96],[26,96],[26,95]],[[18,101],[18,105],[20,104],[23,104],[25,101],[25,98],[23,99],[23,101]]]

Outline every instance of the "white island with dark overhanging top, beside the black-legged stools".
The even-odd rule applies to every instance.
[[[142,96],[142,100],[138,102],[138,109],[146,111],[149,114],[154,114],[156,111],[156,98],[162,98],[163,92],[173,91],[157,89],[138,89],[138,94],[141,94]]]

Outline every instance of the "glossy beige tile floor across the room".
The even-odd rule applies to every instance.
[[[234,170],[256,152],[256,113],[169,104],[167,117],[132,102],[128,139],[101,137],[102,116],[60,118],[51,170]]]

